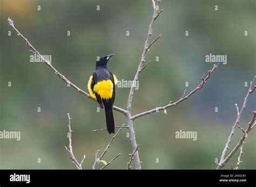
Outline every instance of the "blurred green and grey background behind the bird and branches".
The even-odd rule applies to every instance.
[[[67,87],[46,64],[31,63],[28,47],[6,20],[11,17],[41,54],[51,55],[53,66],[60,73],[87,91],[96,56],[116,54],[108,68],[119,80],[133,79],[152,18],[152,2],[0,2],[0,131],[21,131],[21,141],[0,140],[0,168],[76,169],[64,148],[69,143],[66,113],[70,113],[74,153],[78,160],[86,154],[83,168],[91,169],[96,150],[102,153],[111,139],[106,131],[91,132],[105,128],[104,110],[97,112],[96,102]],[[218,11],[214,10],[215,5]],[[151,63],[140,76],[132,114],[175,101],[184,89],[191,91],[196,87],[200,77],[213,66],[205,62],[205,55],[227,55],[227,64],[220,64],[202,90],[167,110],[167,115],[160,111],[134,122],[142,167],[215,169],[215,158],[219,160],[236,119],[234,104],[241,107],[248,91],[244,84],[250,84],[256,70],[255,1],[162,1],[160,9],[164,12],[154,25],[152,38],[159,34],[163,37],[147,53],[146,60]],[[185,31],[189,32],[187,37]],[[116,106],[125,109],[129,90],[116,89]],[[255,106],[253,93],[242,114],[242,127],[247,127]],[[37,112],[38,107],[41,112]],[[116,125],[127,124],[119,112],[114,111],[114,118]],[[175,132],[179,130],[197,131],[197,141],[176,139]],[[104,156],[109,161],[122,153],[108,169],[127,168],[132,152],[127,132],[120,132]],[[236,145],[241,135],[236,130],[230,147]],[[225,169],[237,163],[237,156],[238,153]],[[256,138],[252,130],[246,139],[240,168],[256,169],[255,157]],[[102,166],[97,164],[97,168]]]

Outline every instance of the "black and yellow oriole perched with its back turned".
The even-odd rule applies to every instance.
[[[113,55],[100,57],[96,61],[95,73],[90,76],[87,85],[92,98],[97,100],[102,109],[104,105],[107,131],[110,134],[114,133],[113,104],[114,96],[116,95],[115,85],[117,84],[117,77],[107,69],[106,64]]]

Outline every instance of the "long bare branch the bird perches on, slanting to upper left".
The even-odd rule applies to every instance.
[[[94,99],[89,95],[89,93],[87,93],[87,92],[83,91],[82,89],[78,88],[77,85],[75,85],[75,84],[73,84],[71,81],[69,81],[68,78],[66,78],[64,75],[60,74],[59,71],[58,71],[55,67],[53,67],[52,64],[51,64],[48,60],[46,60],[46,59],[30,44],[30,42],[28,41],[28,39],[26,39],[26,38],[17,30],[17,28],[14,26],[14,21],[13,21],[11,18],[8,18],[8,23],[9,23],[9,25],[17,32],[17,35],[18,35],[19,37],[21,37],[21,38],[25,41],[26,45],[29,46],[29,48],[31,49],[30,52],[34,53],[34,54],[37,55],[41,60],[43,60],[43,61],[47,64],[47,66],[49,66],[49,68],[51,68],[52,71],[53,71],[56,75],[58,75],[59,78],[61,78],[66,84],[69,84],[71,87],[73,87],[74,89],[76,89],[79,93],[82,93],[82,94],[85,95],[86,97],[88,97],[88,98],[94,100]],[[96,101],[96,100],[95,100],[95,101]],[[113,106],[113,110],[116,110],[116,111],[118,111],[118,112],[121,112],[121,113],[123,113],[123,114],[126,114],[126,111],[125,111],[124,109],[121,109],[121,108],[119,108],[119,107],[117,107],[117,106]]]

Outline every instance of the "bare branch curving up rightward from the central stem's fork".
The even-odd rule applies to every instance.
[[[206,83],[208,78],[210,78],[210,76],[213,74],[214,70],[217,67],[218,67],[218,64],[217,65],[214,64],[213,68],[208,71],[208,75],[205,78],[204,77],[201,78],[203,81],[195,89],[193,89],[190,93],[188,93],[188,95],[185,96],[185,94],[184,94],[179,100],[177,100],[174,103],[170,102],[169,104],[167,104],[165,106],[157,107],[156,109],[152,109],[152,110],[149,110],[149,111],[146,111],[146,112],[142,112],[142,113],[136,114],[135,116],[132,117],[132,119],[134,120],[134,119],[140,118],[142,116],[146,116],[147,114],[151,114],[153,112],[157,112],[157,111],[160,111],[160,110],[165,110],[165,109],[168,109],[169,107],[172,107],[172,106],[177,106],[177,104],[179,104],[179,103],[183,102],[184,100],[188,99],[195,92],[197,92],[198,90],[203,88],[203,85]],[[186,92],[184,91],[184,93],[186,93]]]

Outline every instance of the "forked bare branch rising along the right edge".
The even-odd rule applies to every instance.
[[[242,104],[241,110],[238,111],[237,120],[235,120],[235,123],[234,123],[234,125],[233,125],[233,127],[232,127],[231,133],[230,133],[230,135],[229,135],[228,138],[227,138],[227,142],[226,142],[225,147],[224,147],[224,149],[223,149],[223,152],[222,152],[222,154],[221,154],[219,166],[217,167],[217,169],[221,169],[221,167],[224,167],[224,166],[225,166],[226,162],[227,162],[228,160],[230,160],[230,158],[233,156],[233,154],[234,154],[234,153],[237,151],[237,149],[241,146],[241,143],[243,142],[243,140],[246,138],[246,137],[245,137],[245,134],[244,134],[244,135],[243,135],[244,138],[241,138],[241,140],[239,141],[239,143],[238,143],[238,145],[237,145],[238,147],[236,146],[236,147],[232,150],[232,152],[231,152],[232,154],[230,153],[230,154],[226,157],[226,159],[225,159],[227,149],[229,148],[228,146],[230,145],[230,143],[231,143],[231,138],[232,138],[232,136],[234,135],[234,130],[235,130],[235,128],[237,127],[237,125],[240,123],[241,114],[242,114],[242,112],[245,110],[245,108],[246,108],[246,103],[247,103],[247,99],[248,99],[248,97],[250,96],[250,94],[252,93],[252,88],[254,87],[254,81],[255,81],[255,79],[256,79],[256,76],[254,76],[253,80],[251,81],[250,88],[249,88],[249,90],[248,90],[248,92],[247,92],[247,95],[245,96],[244,103]],[[236,106],[237,106],[237,105],[236,105]],[[238,107],[237,107],[237,108],[238,108]],[[250,125],[249,125],[249,126],[250,126]],[[248,128],[247,128],[247,130],[248,130]],[[247,130],[246,130],[246,133],[248,133]],[[249,131],[250,131],[250,130],[251,130],[251,126],[250,126]],[[233,151],[234,151],[234,152],[233,152]]]

